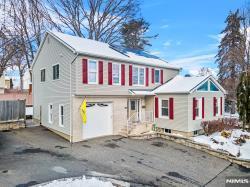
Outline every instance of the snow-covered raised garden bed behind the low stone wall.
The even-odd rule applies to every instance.
[[[223,137],[221,132],[216,132],[210,136],[201,135],[193,137],[193,140],[201,144],[206,144],[212,149],[228,152],[235,157],[250,159],[250,139],[245,138],[246,142],[241,144],[235,142],[242,136],[250,137],[250,133],[234,129],[228,138]]]

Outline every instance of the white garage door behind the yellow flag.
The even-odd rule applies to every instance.
[[[83,139],[112,134],[112,104],[87,103],[87,123],[83,124]]]

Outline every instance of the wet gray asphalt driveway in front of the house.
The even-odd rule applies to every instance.
[[[226,176],[250,170],[163,139],[112,136],[71,145],[43,127],[0,132],[1,187],[81,175],[134,186],[225,186]]]

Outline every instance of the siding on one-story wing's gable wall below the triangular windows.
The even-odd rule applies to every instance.
[[[205,110],[204,110],[204,119],[195,119],[193,120],[193,98],[202,98],[204,97],[205,102]],[[218,101],[220,101],[220,97],[222,97],[222,116],[220,115],[220,109],[219,109],[219,115],[214,116],[213,115],[213,97],[216,97]],[[219,103],[220,105],[220,103]],[[218,92],[193,92],[190,95],[188,95],[188,132],[192,132],[195,130],[202,129],[201,128],[201,122],[202,121],[210,121],[215,120],[218,118],[222,118],[224,116],[224,94],[221,91]]]

